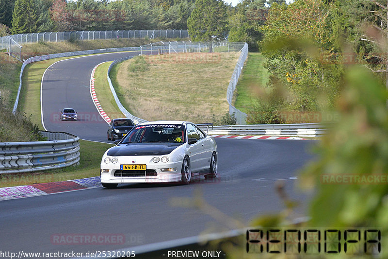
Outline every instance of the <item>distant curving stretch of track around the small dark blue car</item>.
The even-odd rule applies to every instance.
[[[90,95],[92,70],[101,62],[139,54],[99,54],[52,64],[45,71],[41,84],[42,122],[46,130],[65,131],[81,139],[106,141],[107,123],[100,116]],[[64,108],[74,108],[78,113],[78,121],[61,121],[60,115]]]

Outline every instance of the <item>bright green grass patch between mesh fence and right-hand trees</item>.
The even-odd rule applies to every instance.
[[[264,68],[265,57],[259,52],[249,52],[248,59],[236,86],[234,106],[242,112],[252,108],[252,99],[265,91],[268,71]]]

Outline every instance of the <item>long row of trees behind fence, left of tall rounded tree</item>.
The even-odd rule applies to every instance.
[[[0,0],[12,34],[50,31],[187,29],[195,0]]]

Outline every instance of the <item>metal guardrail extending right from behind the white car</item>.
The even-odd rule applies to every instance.
[[[206,129],[205,127],[200,127]],[[269,135],[288,137],[321,137],[325,135],[328,124],[256,124],[213,126],[209,135]]]

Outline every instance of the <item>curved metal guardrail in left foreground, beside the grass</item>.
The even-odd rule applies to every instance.
[[[79,137],[65,132],[40,133],[48,140],[0,143],[0,174],[62,168],[80,161]]]

